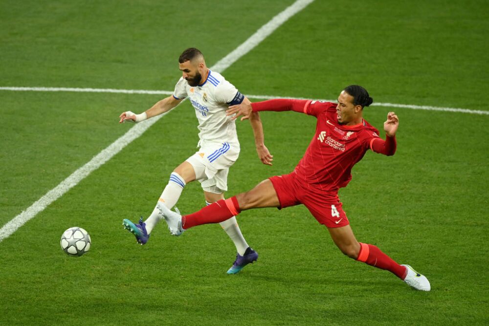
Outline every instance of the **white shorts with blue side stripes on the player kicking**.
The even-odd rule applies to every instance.
[[[200,149],[186,159],[195,171],[202,189],[213,194],[227,191],[227,174],[229,167],[240,155],[239,143],[217,143],[200,141]]]

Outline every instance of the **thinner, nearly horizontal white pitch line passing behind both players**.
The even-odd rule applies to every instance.
[[[121,93],[121,94],[162,94],[172,95],[170,90],[144,90],[144,89],[113,89],[113,88],[70,88],[70,87],[0,87],[0,90],[12,91],[42,91],[42,92],[88,92],[88,93]],[[289,97],[289,96],[271,96],[271,95],[246,95],[250,99],[270,100],[276,98],[288,98],[293,100],[309,100],[305,97]],[[322,99],[318,99],[322,100]],[[335,102],[336,100],[323,100]],[[396,104],[396,103],[377,103],[372,104],[373,107],[389,107],[401,109],[429,110],[429,111],[445,111],[445,112],[460,112],[470,114],[489,115],[489,110],[471,110],[461,108],[444,108],[431,107],[426,105],[413,104]]]

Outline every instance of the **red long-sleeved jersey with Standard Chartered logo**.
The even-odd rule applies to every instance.
[[[253,111],[294,110],[317,119],[316,132],[294,172],[303,184],[337,191],[352,179],[352,168],[371,149],[386,155],[396,151],[394,137],[384,141],[367,121],[355,126],[338,123],[336,104],[307,100],[269,100],[252,104]]]

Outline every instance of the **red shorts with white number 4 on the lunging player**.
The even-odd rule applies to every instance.
[[[280,201],[279,209],[303,204],[319,223],[329,228],[350,224],[336,191],[311,188],[298,180],[295,172],[272,176],[269,179]]]

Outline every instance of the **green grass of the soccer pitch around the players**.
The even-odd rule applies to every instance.
[[[2,1],[0,86],[172,90],[178,55],[199,47],[212,66],[289,1]],[[334,99],[348,84],[377,102],[488,110],[485,1],[316,0],[223,75],[245,94]],[[0,91],[0,225],[129,130],[125,110],[155,95]],[[365,118],[382,128],[390,108]],[[147,216],[172,170],[197,144],[183,103],[67,194],[0,242],[3,325],[484,325],[489,322],[487,115],[396,109],[398,152],[368,152],[340,198],[356,237],[425,274],[432,290],[352,261],[303,206],[243,212],[259,261],[225,271],[234,246],[217,225],[170,237],[158,225],[135,245],[122,218]],[[242,152],[228,196],[289,173],[314,118],[261,114],[273,167]],[[178,203],[204,205],[191,183]],[[81,258],[59,239],[81,226]]]

